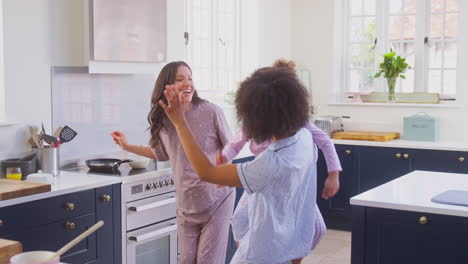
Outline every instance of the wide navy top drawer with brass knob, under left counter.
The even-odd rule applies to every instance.
[[[0,208],[0,235],[96,211],[95,190]]]

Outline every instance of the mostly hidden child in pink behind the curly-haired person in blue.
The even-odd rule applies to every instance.
[[[278,60],[275,62],[274,67],[287,67],[291,70],[294,70],[294,63]],[[327,163],[328,177],[324,184],[322,198],[328,199],[330,197],[333,197],[339,189],[338,177],[339,172],[342,170],[340,160],[338,159],[338,155],[336,154],[335,146],[327,134],[325,134],[322,130],[320,130],[310,122],[307,122],[305,128],[309,130],[312,134],[315,144],[322,150],[325,157],[325,161]],[[231,161],[242,150],[246,142],[247,137],[242,133],[242,130],[239,131],[233,138],[233,140],[230,141],[229,144],[223,148],[223,151],[221,153],[217,153],[216,162],[218,164],[222,164],[226,163],[227,161]],[[270,144],[271,141],[265,141],[262,143],[256,143],[254,141],[251,141],[249,148],[255,156],[258,156],[261,152],[268,148]],[[236,241],[239,241],[240,238],[243,235],[245,235],[245,233],[248,230],[247,199],[248,195],[244,192],[241,199],[239,200],[239,203],[233,215],[232,225],[235,225],[237,228],[233,228],[232,230],[234,239]],[[314,225],[315,233],[312,243],[312,249],[315,248],[315,246],[318,244],[318,242],[323,237],[326,231],[325,222],[317,205],[315,206]],[[234,230],[237,230],[238,232],[234,232]],[[294,260],[293,264],[299,264],[301,263],[301,261],[302,259]]]

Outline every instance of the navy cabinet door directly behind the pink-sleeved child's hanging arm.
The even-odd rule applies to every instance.
[[[353,192],[353,155],[354,147],[336,145],[336,152],[343,171],[340,173],[340,189],[338,193],[326,200],[321,197],[324,182],[328,176],[323,153],[319,152],[317,160],[317,204],[325,219],[327,227],[334,229],[351,229],[351,206],[349,198]]]

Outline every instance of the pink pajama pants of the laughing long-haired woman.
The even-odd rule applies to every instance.
[[[236,192],[214,209],[187,214],[177,211],[179,264],[223,264]]]

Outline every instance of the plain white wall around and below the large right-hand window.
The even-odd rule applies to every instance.
[[[467,1],[459,1],[468,10]],[[466,14],[466,13],[465,13]],[[468,16],[460,16],[460,25],[468,22]],[[385,106],[336,106],[333,101],[334,56],[334,1],[291,0],[291,55],[299,66],[312,72],[312,96],[315,111],[319,115],[350,116],[345,129],[366,129],[401,132],[403,117],[426,112],[440,117],[440,137],[444,141],[465,140],[468,122],[468,28],[459,27],[456,108],[385,107]]]

